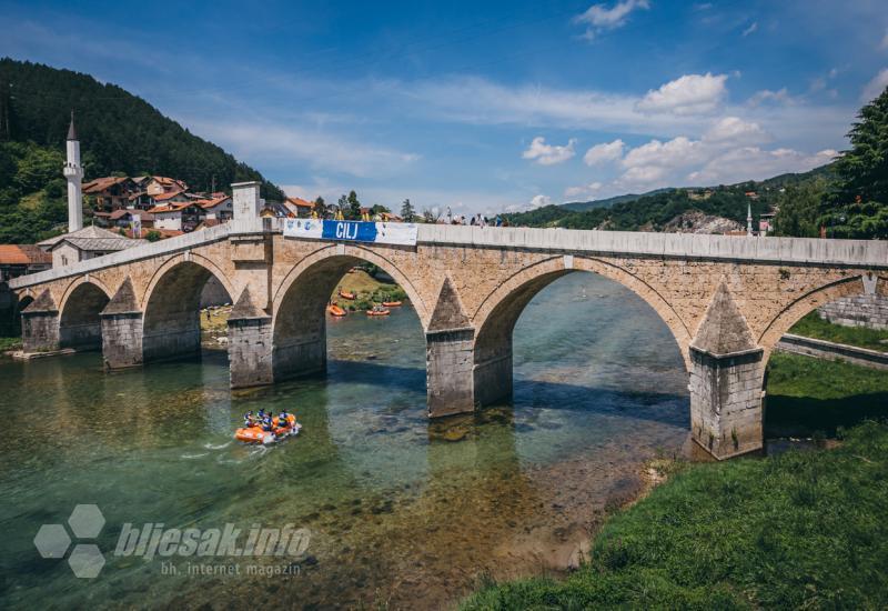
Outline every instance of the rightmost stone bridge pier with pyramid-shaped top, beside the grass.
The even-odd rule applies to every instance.
[[[763,447],[764,350],[723,282],[690,344],[690,433],[723,460]]]

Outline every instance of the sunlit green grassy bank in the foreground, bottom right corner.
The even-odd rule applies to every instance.
[[[463,609],[888,605],[888,425],[835,450],[686,467],[613,517],[563,581],[487,584]]]

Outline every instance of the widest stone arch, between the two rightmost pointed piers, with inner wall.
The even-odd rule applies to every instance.
[[[565,264],[567,263],[567,264]],[[669,328],[690,371],[690,332],[666,300],[649,284],[625,269],[594,258],[553,257],[524,268],[493,290],[476,310],[475,401],[490,403],[512,391],[512,333],[521,313],[545,287],[576,271],[597,273],[628,288],[647,302]]]

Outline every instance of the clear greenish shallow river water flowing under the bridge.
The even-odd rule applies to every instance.
[[[22,434],[0,440],[0,605],[422,608],[481,575],[564,568],[637,492],[640,463],[686,441],[687,380],[656,314],[587,273],[537,296],[514,349],[511,404],[431,423],[407,308],[330,321],[325,378],[243,392],[229,390],[220,352],[114,374],[99,354],[2,362],[2,409]],[[260,408],[295,411],[303,434],[234,442],[241,414]],[[107,518],[94,580],[32,543],[78,503]],[[311,541],[297,575],[186,574],[189,562],[232,558],[173,559],[170,575],[160,558],[110,553],[125,522],[293,523]]]

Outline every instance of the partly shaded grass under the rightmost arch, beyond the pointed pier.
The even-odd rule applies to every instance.
[[[768,363],[765,437],[834,435],[839,427],[888,418],[888,372],[775,352]]]

